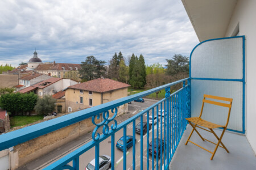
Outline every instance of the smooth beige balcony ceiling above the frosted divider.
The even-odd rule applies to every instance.
[[[181,0],[199,41],[224,37],[237,0]]]

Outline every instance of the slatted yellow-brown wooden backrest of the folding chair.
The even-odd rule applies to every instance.
[[[215,99],[215,100],[222,100],[222,101],[229,101],[229,104],[221,103],[221,102],[218,102],[218,101],[207,100],[205,98]],[[229,116],[230,116],[230,111],[231,111],[231,107],[232,107],[232,102],[233,102],[233,99],[231,99],[231,98],[212,96],[212,95],[204,95],[203,104],[202,104],[202,108],[201,108],[201,113],[200,113],[199,117],[202,116],[204,103],[209,103],[209,104],[214,104],[214,105],[219,105],[221,107],[229,108],[228,118],[226,120],[226,125],[225,125],[225,128],[226,128],[226,126],[228,126],[228,123],[229,123]]]

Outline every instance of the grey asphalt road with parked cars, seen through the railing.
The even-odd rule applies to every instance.
[[[156,100],[145,100],[144,103],[138,103],[138,102],[132,102],[129,104],[129,113],[128,114],[133,114],[135,115],[136,113],[141,112],[143,109],[146,109],[150,107],[152,104],[156,103]],[[150,112],[150,115],[152,113]],[[130,115],[129,117],[133,116]],[[146,115],[144,114],[143,116],[143,122],[146,122]],[[160,117],[159,117],[160,118]],[[136,120],[137,125],[140,122],[140,118]],[[133,124],[127,125],[127,135],[133,135]],[[115,144],[123,136],[123,129],[117,131],[115,133]],[[154,136],[156,137],[156,125],[154,127]],[[137,143],[135,144],[135,162],[136,162],[136,168],[135,169],[140,169],[141,168],[141,135],[137,134],[135,135],[137,139]],[[160,125],[159,125],[159,137],[160,137]],[[149,136],[149,142],[152,141],[152,129],[150,130],[150,136]],[[111,155],[111,137],[105,139],[100,143],[100,155]],[[127,169],[133,169],[133,147],[130,147],[127,152]],[[95,148],[91,148],[84,154],[80,156],[80,169],[85,169],[86,165],[95,158]],[[154,157],[154,166],[156,166],[156,158]],[[118,150],[117,147],[115,147],[115,160],[112,160],[112,163],[115,165],[115,169],[122,169],[123,168],[123,151]],[[160,161],[159,161],[160,164]],[[146,169],[147,167],[147,134],[143,135],[143,169]],[[149,169],[152,168],[152,156],[149,156]]]

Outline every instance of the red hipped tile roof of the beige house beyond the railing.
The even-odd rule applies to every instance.
[[[94,91],[94,92],[107,92],[117,90],[120,88],[129,87],[129,84],[118,82],[112,79],[94,79],[88,82],[69,86],[68,88],[75,88],[79,90]]]

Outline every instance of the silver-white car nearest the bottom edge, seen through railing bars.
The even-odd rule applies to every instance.
[[[106,170],[111,167],[111,158],[108,155],[101,155],[99,158],[100,164],[99,168],[100,170]],[[94,170],[95,169],[95,159],[93,159],[89,164],[87,164],[86,170]]]

